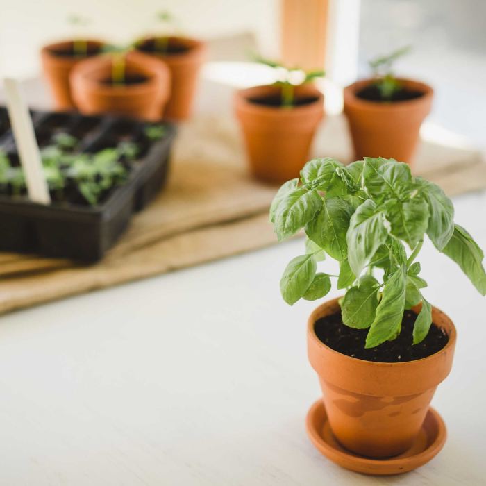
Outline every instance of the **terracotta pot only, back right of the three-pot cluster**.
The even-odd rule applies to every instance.
[[[146,54],[162,59],[171,72],[171,94],[165,107],[165,117],[184,120],[190,117],[194,94],[196,94],[199,69],[206,56],[206,44],[188,37],[169,37],[169,43],[181,49],[177,53],[156,53],[151,51],[155,37],[147,37],[137,46]]]

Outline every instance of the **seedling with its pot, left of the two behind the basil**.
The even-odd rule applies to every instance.
[[[253,175],[282,183],[298,176],[308,159],[324,115],[324,97],[312,81],[324,76],[324,71],[304,72],[260,56],[255,60],[274,69],[278,81],[238,90],[235,112]]]

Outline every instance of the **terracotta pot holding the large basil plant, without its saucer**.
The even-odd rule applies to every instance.
[[[401,454],[417,437],[435,388],[451,371],[455,327],[433,308],[434,324],[449,336],[443,349],[416,361],[364,361],[330,349],[315,334],[315,322],[338,310],[333,299],[308,321],[308,356],[319,375],[333,435],[349,451],[370,458]]]

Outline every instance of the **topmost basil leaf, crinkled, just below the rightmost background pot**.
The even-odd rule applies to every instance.
[[[377,201],[387,196],[402,199],[412,188],[410,166],[393,159],[365,157],[363,177],[367,193]]]

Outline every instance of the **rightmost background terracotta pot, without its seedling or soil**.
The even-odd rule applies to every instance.
[[[424,93],[419,98],[378,103],[356,97],[371,79],[344,88],[344,115],[353,138],[355,160],[394,158],[412,165],[422,121],[430,112],[433,89],[418,81],[399,79],[403,87]]]

